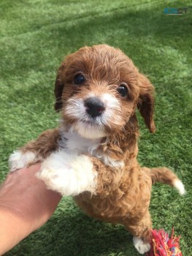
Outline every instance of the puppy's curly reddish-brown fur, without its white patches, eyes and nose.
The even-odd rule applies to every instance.
[[[72,80],[77,72],[85,75],[85,85],[78,87],[73,84]],[[126,99],[122,99],[117,91],[122,82],[126,82],[129,89]],[[81,48],[67,56],[58,69],[55,110],[61,110],[66,129],[70,129],[78,121],[66,113],[68,99],[86,99],[90,92],[97,96],[108,93],[120,102],[120,110],[114,112],[114,116],[105,124],[106,136],[101,138],[96,150],[114,161],[123,161],[124,167],[104,165],[100,159],[89,154],[98,173],[96,195],[83,192],[74,197],[74,200],[88,216],[120,223],[134,236],[149,241],[152,223],[148,208],[152,183],[161,181],[172,185],[177,178],[167,168],[150,169],[140,167],[137,162],[139,127],[135,111],[136,108],[139,109],[148,129],[154,132],[153,85],[145,75],[139,73],[131,59],[121,50],[108,45],[96,45]],[[115,123],[117,116],[120,118]],[[48,130],[23,147],[22,151],[35,151],[46,158],[51,151],[58,149],[59,140],[59,129]]]

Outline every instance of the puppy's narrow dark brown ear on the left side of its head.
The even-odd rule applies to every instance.
[[[58,73],[55,80],[55,111],[59,112],[62,108],[63,102],[62,102],[62,93],[64,90],[64,81],[62,79],[62,75],[64,72],[64,62],[61,64],[61,66],[58,69]]]

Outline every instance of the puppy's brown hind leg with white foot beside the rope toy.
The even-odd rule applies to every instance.
[[[123,225],[134,236],[134,246],[140,254],[150,250],[152,223],[149,211],[142,219],[125,219]]]

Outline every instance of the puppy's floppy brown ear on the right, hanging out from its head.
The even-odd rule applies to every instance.
[[[139,101],[137,108],[145,120],[145,124],[150,132],[155,132],[155,123],[153,121],[155,89],[145,75],[139,74]]]

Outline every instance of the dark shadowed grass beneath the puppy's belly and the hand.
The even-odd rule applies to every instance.
[[[96,221],[74,208],[72,212],[55,214],[6,256],[104,256],[120,252],[126,255],[127,250],[138,255],[131,234],[122,226]]]

